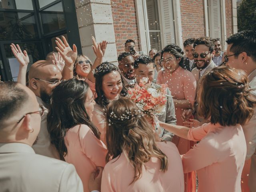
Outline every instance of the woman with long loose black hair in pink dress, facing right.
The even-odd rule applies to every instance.
[[[88,84],[76,78],[61,82],[52,92],[47,122],[52,143],[62,160],[75,166],[84,192],[88,192],[90,173],[104,167],[106,146],[90,118],[94,98]]]

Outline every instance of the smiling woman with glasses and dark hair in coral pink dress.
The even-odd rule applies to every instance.
[[[167,84],[172,92],[177,125],[183,125],[182,112],[193,107],[196,96],[196,80],[193,74],[180,66],[183,63],[183,54],[176,44],[166,46],[161,52],[164,70],[160,70],[157,76],[157,83]],[[180,154],[185,154],[195,144],[178,136],[174,136],[172,142],[176,144]],[[184,177],[185,192],[194,192],[195,174],[185,174]]]

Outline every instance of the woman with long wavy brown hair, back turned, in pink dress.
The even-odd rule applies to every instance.
[[[106,118],[108,163],[102,173],[102,192],[184,192],[176,146],[156,142],[153,127],[132,100],[112,101]]]

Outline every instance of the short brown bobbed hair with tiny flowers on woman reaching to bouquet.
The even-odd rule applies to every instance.
[[[198,95],[198,114],[222,126],[244,125],[256,104],[246,73],[225,66],[212,69],[202,78]]]

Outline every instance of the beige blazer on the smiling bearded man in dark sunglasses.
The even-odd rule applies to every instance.
[[[216,67],[215,63],[211,60],[209,66],[206,68],[206,70],[204,71],[204,73],[202,74],[202,76],[206,75],[209,71],[211,71],[214,67]],[[195,79],[196,79],[196,100],[197,100],[197,97],[198,97],[198,90],[199,90],[199,87],[200,87],[200,80],[202,78],[202,76],[200,76],[200,70],[198,70],[197,68],[194,68],[192,69],[192,74],[194,75]],[[196,110],[196,114],[194,116],[195,119],[199,120],[199,121],[204,121],[204,118],[200,117],[198,114],[197,114],[197,111],[198,111],[198,103],[195,102],[194,104],[194,108]]]

